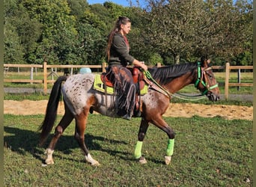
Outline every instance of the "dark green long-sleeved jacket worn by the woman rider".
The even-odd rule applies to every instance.
[[[110,48],[109,66],[121,64],[126,67],[128,64],[132,64],[134,58],[129,55],[128,48],[129,46],[127,46],[124,36],[120,33],[116,33]]]

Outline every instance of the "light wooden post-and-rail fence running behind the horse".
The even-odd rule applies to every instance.
[[[90,69],[100,69],[101,72],[106,72],[107,64],[103,63],[101,65],[48,65],[46,62],[43,63],[43,65],[39,64],[4,64],[4,74],[7,74],[10,67],[16,67],[16,68],[30,68],[30,79],[4,79],[4,82],[22,82],[22,83],[41,83],[43,84],[43,92],[47,93],[47,84],[53,83],[55,80],[53,79],[53,76],[56,71],[53,69],[61,68],[61,69],[70,69],[71,73],[73,73],[74,68],[82,68],[82,67],[88,67]],[[157,67],[161,67],[161,64],[158,63]],[[33,79],[33,73],[34,68],[42,68],[43,69],[43,80],[34,80]],[[49,73],[48,69],[51,69],[51,72]],[[253,83],[229,83],[230,78],[230,71],[231,70],[239,70],[238,77],[240,77],[240,70],[253,70],[253,66],[230,66],[229,63],[225,64],[225,67],[223,66],[213,66],[213,70],[225,70],[225,99],[228,99],[228,87],[230,86],[253,86]],[[47,79],[49,76],[52,76],[52,80]]]

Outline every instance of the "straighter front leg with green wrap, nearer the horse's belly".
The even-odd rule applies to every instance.
[[[144,157],[141,154],[142,144],[143,144],[144,137],[147,133],[147,128],[148,128],[148,121],[142,118],[141,126],[139,127],[139,130],[138,130],[138,141],[137,141],[135,152],[134,152],[135,159],[138,159],[138,162],[141,164],[147,163],[147,160],[144,159]]]

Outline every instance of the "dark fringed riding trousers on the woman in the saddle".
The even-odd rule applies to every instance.
[[[129,114],[132,116],[135,105],[135,84],[132,79],[132,73],[127,67],[122,66],[110,67],[109,73],[117,95],[118,115]]]

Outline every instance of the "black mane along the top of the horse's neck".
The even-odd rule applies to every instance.
[[[172,79],[183,76],[183,74],[195,70],[195,67],[197,67],[196,63],[186,63],[175,64],[166,67],[148,68],[148,71],[150,72],[153,79],[159,81],[160,85],[165,85],[168,82],[171,82]]]

